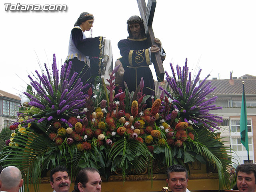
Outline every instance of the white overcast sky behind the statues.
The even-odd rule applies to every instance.
[[[5,11],[4,3],[66,4],[66,11]],[[146,1],[147,2],[147,1]],[[28,73],[40,71],[39,62],[60,67],[68,54],[70,31],[82,12],[94,15],[92,37],[111,40],[114,61],[119,40],[128,36],[126,20],[140,15],[136,0],[20,0],[2,1],[0,90],[19,94]],[[255,0],[157,0],[153,30],[170,62],[183,66],[188,58],[192,74],[202,68],[203,79],[256,76]],[[90,36],[86,33],[86,36]],[[151,67],[154,73],[154,67]],[[17,75],[16,75],[17,74]],[[19,77],[18,77],[19,76]],[[22,79],[22,80],[21,80]]]

